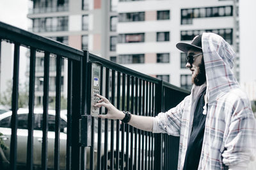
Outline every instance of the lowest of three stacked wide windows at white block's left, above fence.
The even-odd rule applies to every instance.
[[[144,54],[124,54],[119,55],[119,63],[121,64],[131,64],[131,63],[144,63]]]

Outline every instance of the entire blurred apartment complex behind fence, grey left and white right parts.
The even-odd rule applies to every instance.
[[[237,8],[233,0],[33,0],[28,18],[34,33],[189,89],[186,54],[175,44],[211,31],[239,52]],[[35,95],[42,103],[44,58],[40,52],[36,56]],[[50,97],[55,95],[55,62],[52,58]],[[239,63],[234,69],[237,79],[238,68]],[[66,60],[62,75],[67,97]]]

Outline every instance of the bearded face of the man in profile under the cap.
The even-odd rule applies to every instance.
[[[198,50],[189,50],[188,55],[195,56],[195,59],[193,63],[187,63],[186,67],[189,68],[192,72],[192,83],[196,86],[201,86],[206,81],[205,76],[205,66],[204,66],[204,58],[202,51]],[[199,56],[196,56],[197,54],[200,54]]]

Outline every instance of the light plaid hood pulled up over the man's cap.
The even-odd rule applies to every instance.
[[[206,73],[206,97],[210,104],[239,84],[232,68],[236,54],[232,47],[219,35],[203,33],[202,49]]]

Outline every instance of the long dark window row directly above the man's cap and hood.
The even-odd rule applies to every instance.
[[[188,41],[193,40],[196,35],[200,35],[204,32],[207,33],[216,33],[217,35],[222,36],[229,44],[233,43],[233,29],[202,29],[202,30],[189,30],[189,31],[180,31],[180,40]]]

